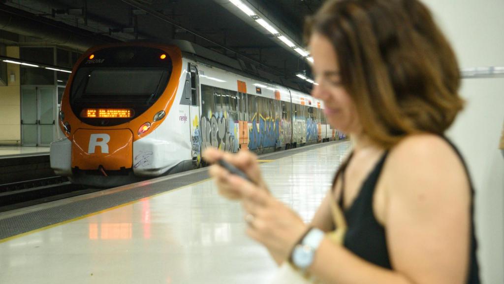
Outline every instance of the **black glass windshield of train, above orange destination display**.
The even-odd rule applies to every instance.
[[[74,113],[85,109],[131,109],[141,115],[163,94],[172,71],[169,56],[163,51],[124,46],[99,50],[84,60],[71,82],[70,104]],[[120,124],[130,118],[114,118],[107,125]],[[103,121],[80,117],[95,125]]]

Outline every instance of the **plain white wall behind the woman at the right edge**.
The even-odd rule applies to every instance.
[[[462,68],[504,66],[503,0],[423,0],[451,41]],[[448,136],[468,163],[476,187],[476,232],[482,282],[504,283],[504,77],[464,79],[467,100]]]

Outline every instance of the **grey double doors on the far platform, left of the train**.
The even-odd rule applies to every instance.
[[[54,140],[54,87],[22,86],[21,140],[24,146],[49,146]]]

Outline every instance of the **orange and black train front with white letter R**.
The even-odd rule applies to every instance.
[[[77,184],[110,187],[157,176],[176,163],[156,132],[166,128],[181,74],[176,47],[125,43],[89,50],[65,89],[51,144],[56,174]],[[163,127],[163,124],[165,124]]]

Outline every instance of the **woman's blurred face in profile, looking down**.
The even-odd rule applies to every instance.
[[[312,71],[316,82],[311,95],[324,101],[324,114],[332,127],[345,133],[356,133],[360,127],[357,109],[341,84],[338,58],[329,39],[314,33],[310,38]]]

